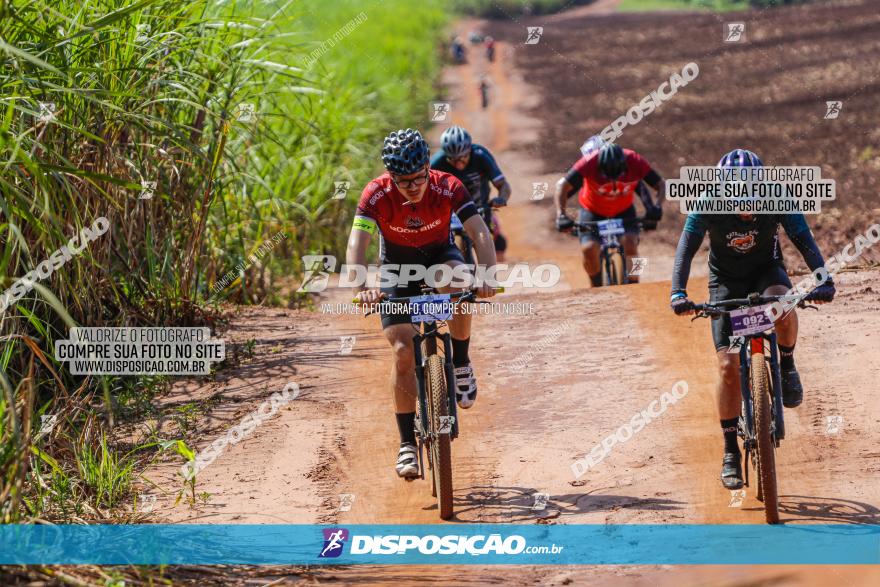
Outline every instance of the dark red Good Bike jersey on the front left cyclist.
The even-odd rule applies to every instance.
[[[441,171],[428,173],[428,187],[417,204],[407,200],[385,173],[361,194],[355,228],[380,233],[383,263],[420,263],[445,250],[450,241],[452,213],[462,222],[477,213],[462,183]]]

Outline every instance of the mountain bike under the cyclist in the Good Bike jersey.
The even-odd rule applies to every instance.
[[[498,291],[501,291],[500,289]],[[477,302],[473,290],[437,293],[423,286],[420,296],[386,298],[382,304],[406,304],[415,335],[413,353],[416,365],[416,439],[419,477],[425,478],[424,452],[431,471],[431,495],[437,498],[440,518],[448,520],[452,505],[452,441],[458,438],[458,404],[455,399],[455,368],[452,341],[440,332],[452,318],[456,306]],[[399,311],[399,307],[398,310]],[[368,312],[367,315],[374,313]],[[438,352],[440,350],[442,352]]]

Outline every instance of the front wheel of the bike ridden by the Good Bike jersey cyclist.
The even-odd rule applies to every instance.
[[[441,417],[449,415],[443,358],[433,354],[427,361],[428,435],[431,439],[431,465],[440,518],[452,517],[452,442],[450,433],[440,433]]]

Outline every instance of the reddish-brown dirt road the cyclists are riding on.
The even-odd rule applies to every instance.
[[[598,9],[606,8],[600,3]],[[581,8],[579,11],[583,12]],[[462,30],[480,26],[462,24]],[[518,51],[519,49],[517,49]],[[541,120],[530,108],[547,99],[517,71],[502,43],[494,64],[480,57],[444,79],[453,122],[499,156],[513,185],[502,212],[510,262],[554,262],[563,272],[550,291],[496,298],[527,315],[475,320],[471,348],[480,381],[476,406],[461,414],[453,445],[455,518],[451,524],[761,523],[760,503],[741,503],[717,479],[721,456],[714,407],[714,352],[706,322],[669,311],[669,238],[644,239],[643,283],[588,289],[574,239],[551,230],[547,198],[531,201],[533,183],[552,183],[541,161],[521,147]],[[477,83],[492,84],[488,112]],[[442,127],[438,129],[442,130]],[[579,140],[571,140],[572,157]],[[548,194],[549,198],[549,194]],[[669,237],[669,235],[666,235]],[[689,288],[706,296],[705,258]],[[703,277],[701,277],[703,276]],[[788,524],[880,523],[880,302],[878,273],[847,273],[841,295],[818,313],[802,313],[797,360],[807,398],[787,411],[778,454],[781,515]],[[344,296],[343,296],[344,297]],[[342,298],[339,298],[340,300]],[[329,299],[328,301],[335,301]],[[342,337],[356,337],[350,352]],[[160,500],[168,521],[204,523],[437,523],[427,482],[396,478],[397,432],[387,380],[388,349],[377,318],[248,309],[227,339],[255,339],[253,358],[199,389],[181,385],[172,401],[222,392],[225,401],[199,422],[207,445],[272,391],[297,381],[301,395],[250,438],[228,448],[198,479],[210,494],[194,508]],[[512,366],[517,361],[525,368]],[[688,393],[580,479],[571,464],[677,381]],[[233,401],[234,400],[234,401]],[[201,445],[200,445],[201,446]],[[151,476],[173,492],[174,467]],[[343,494],[350,505],[340,511]],[[534,509],[537,494],[547,505]],[[290,580],[415,584],[455,577],[455,584],[786,585],[877,584],[880,570],[789,567],[444,567],[292,570]],[[282,574],[283,575],[283,574]]]

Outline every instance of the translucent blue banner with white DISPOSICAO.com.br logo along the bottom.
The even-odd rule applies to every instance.
[[[0,564],[880,564],[880,526],[6,525]]]

